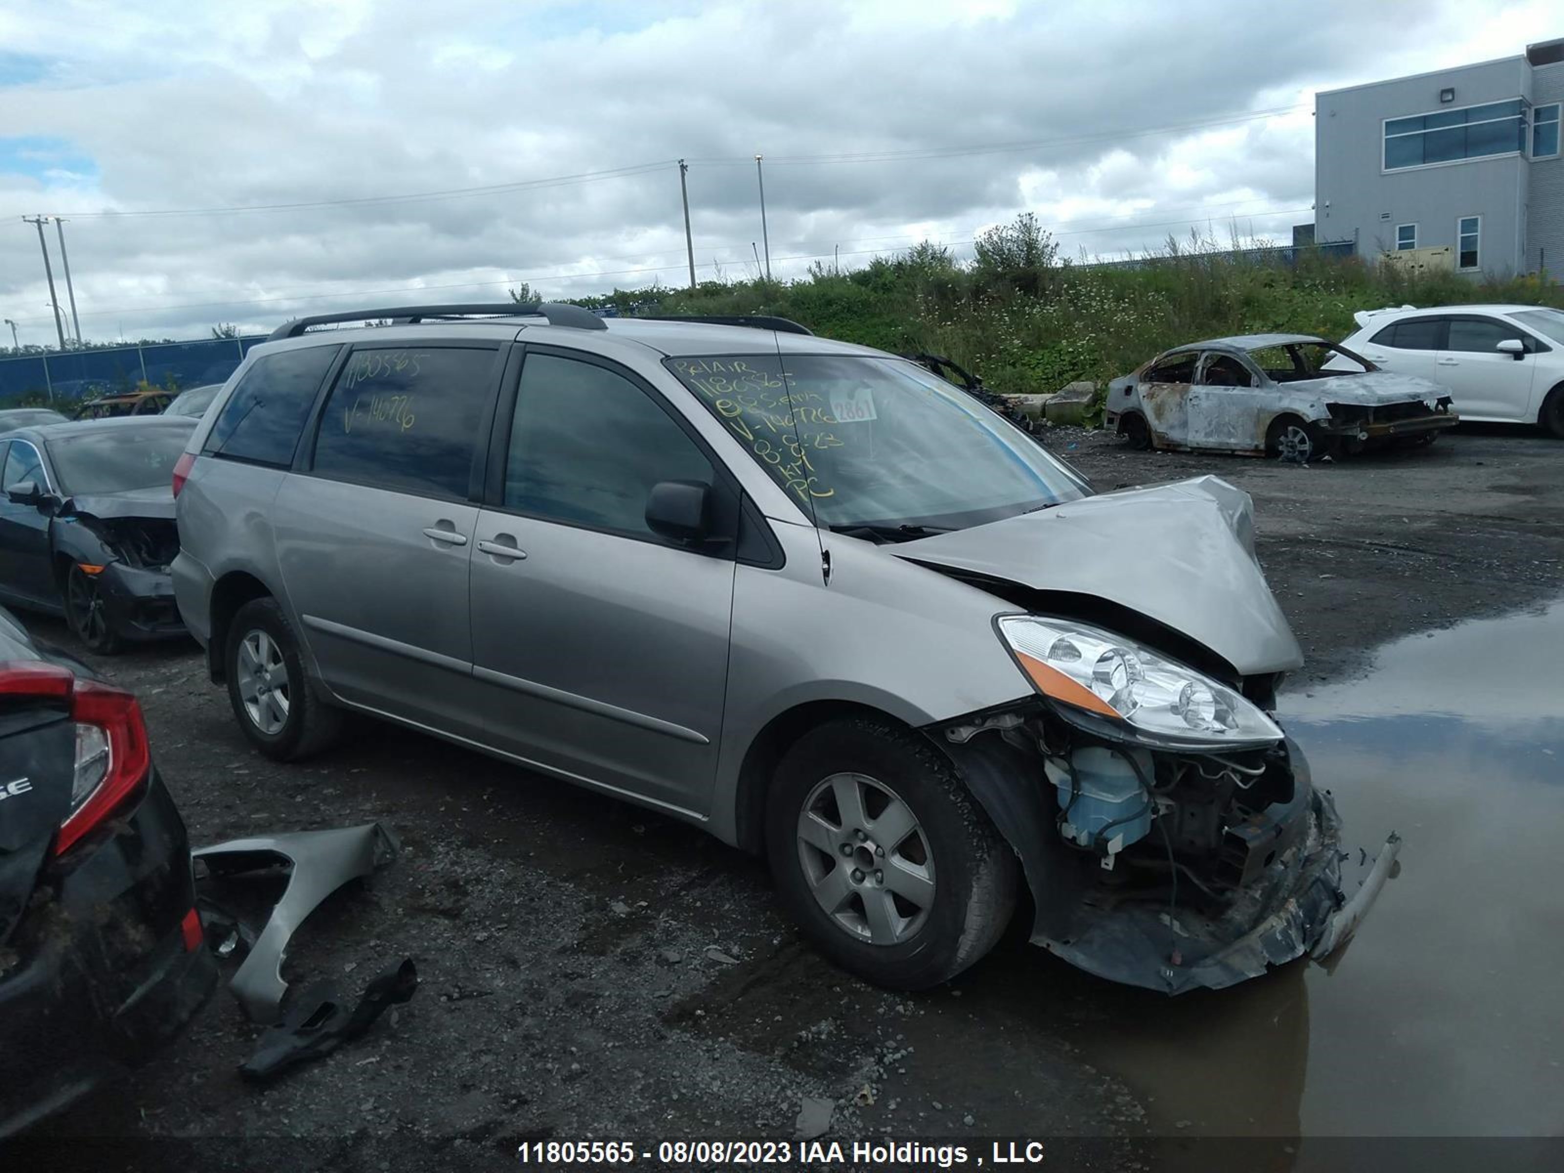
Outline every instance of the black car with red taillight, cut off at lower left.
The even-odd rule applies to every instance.
[[[144,1062],[216,979],[136,698],[0,608],[0,1139]]]

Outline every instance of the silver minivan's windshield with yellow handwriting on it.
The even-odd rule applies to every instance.
[[[923,536],[1089,491],[1024,432],[910,361],[712,355],[666,364],[821,526]]]

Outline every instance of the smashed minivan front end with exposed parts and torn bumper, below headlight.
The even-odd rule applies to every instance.
[[[1032,942],[1065,960],[1181,993],[1345,938],[1331,932],[1350,902],[1340,821],[1290,738],[1226,754],[1160,751],[1095,737],[1045,705],[942,732],[1021,857]]]

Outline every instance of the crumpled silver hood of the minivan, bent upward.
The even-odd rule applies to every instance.
[[[1117,602],[1204,644],[1243,676],[1303,663],[1254,558],[1250,494],[1218,477],[1103,493],[887,552]]]

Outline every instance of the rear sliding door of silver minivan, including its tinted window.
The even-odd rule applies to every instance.
[[[288,597],[332,691],[468,740],[482,734],[468,563],[499,355],[355,347],[271,508]]]

